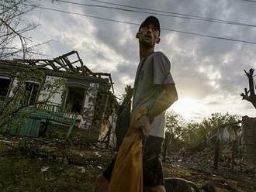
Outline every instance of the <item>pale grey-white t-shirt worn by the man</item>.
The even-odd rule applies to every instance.
[[[161,94],[161,87],[155,85],[175,84],[171,77],[171,63],[161,52],[154,52],[140,61],[134,82],[133,107],[131,115],[139,107],[149,107]],[[150,125],[150,135],[164,138],[165,111],[154,118]]]

